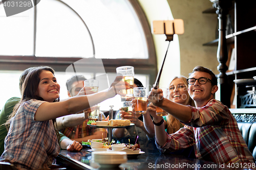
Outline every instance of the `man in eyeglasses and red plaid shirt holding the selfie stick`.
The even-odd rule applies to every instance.
[[[239,131],[237,121],[220,101],[214,99],[218,90],[217,78],[208,68],[197,66],[187,79],[188,93],[196,107],[183,106],[162,99],[161,89],[152,89],[152,102],[185,124],[174,134],[163,134],[162,117],[153,116],[156,145],[160,152],[177,151],[194,146],[197,159],[219,164],[237,164],[240,168],[255,163]]]

